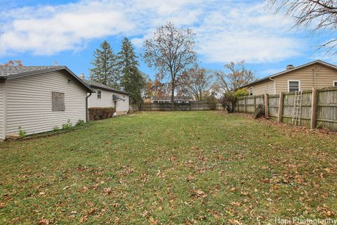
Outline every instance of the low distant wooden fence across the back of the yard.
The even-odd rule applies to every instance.
[[[175,103],[174,110],[201,111],[201,110],[223,110],[220,103],[206,103],[203,101],[191,101],[190,103]],[[142,103],[142,111],[171,111],[171,103]]]

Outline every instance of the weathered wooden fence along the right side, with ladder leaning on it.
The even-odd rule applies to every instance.
[[[294,93],[246,96],[237,100],[236,111],[253,113],[256,105],[263,104],[265,117],[291,124]],[[337,88],[303,91],[300,125],[337,131]]]

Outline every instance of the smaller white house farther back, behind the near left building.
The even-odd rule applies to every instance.
[[[84,83],[91,87],[95,93],[88,97],[88,108],[115,107],[116,115],[126,115],[129,109],[129,95],[125,91],[112,89],[110,86],[98,84],[79,76]]]

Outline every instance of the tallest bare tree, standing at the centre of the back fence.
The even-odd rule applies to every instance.
[[[157,69],[159,80],[170,80],[172,110],[178,78],[197,61],[194,38],[192,30],[176,28],[172,23],[167,23],[157,27],[152,37],[144,41],[145,63]]]

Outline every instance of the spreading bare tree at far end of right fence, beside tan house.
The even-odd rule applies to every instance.
[[[217,84],[213,86],[218,99],[228,113],[233,113],[236,102],[235,91],[240,87],[253,82],[255,79],[251,70],[246,70],[244,61],[228,63],[225,70],[215,72]]]

